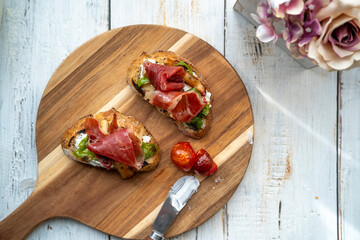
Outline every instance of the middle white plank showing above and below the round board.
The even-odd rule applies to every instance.
[[[224,52],[224,1],[111,1],[111,28],[132,24],[161,24],[179,28]],[[173,239],[226,239],[226,236],[223,238],[225,214],[221,212],[199,228]]]

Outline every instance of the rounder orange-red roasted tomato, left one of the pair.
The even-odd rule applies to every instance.
[[[171,150],[171,160],[181,170],[190,171],[196,161],[194,149],[188,142],[179,142]]]

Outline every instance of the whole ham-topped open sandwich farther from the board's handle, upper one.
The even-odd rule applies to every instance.
[[[128,84],[187,136],[202,138],[210,129],[212,96],[187,59],[170,51],[142,53],[129,68]]]

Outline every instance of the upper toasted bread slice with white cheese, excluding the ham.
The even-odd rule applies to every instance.
[[[150,99],[146,97],[146,92],[154,91],[155,88],[149,83],[144,84],[141,87],[137,85],[137,81],[146,76],[145,68],[143,67],[144,61],[151,61],[153,63],[161,64],[161,65],[169,65],[175,66],[179,62],[185,62],[188,66],[190,66],[193,74],[186,72],[184,77],[185,84],[188,88],[195,87],[206,99],[209,103],[210,109],[209,114],[204,118],[202,127],[200,129],[196,129],[191,125],[176,121],[171,115],[164,109],[154,106],[161,114],[168,117],[170,121],[177,125],[180,131],[182,131],[185,135],[192,137],[192,138],[202,138],[206,135],[206,133],[210,129],[211,124],[211,104],[213,101],[213,97],[211,96],[211,92],[209,90],[208,84],[202,74],[197,70],[197,68],[187,59],[176,55],[170,51],[157,51],[152,54],[147,54],[143,52],[137,59],[135,59],[130,67],[129,67],[129,74],[128,74],[128,84],[132,87],[132,89],[137,92],[145,101],[150,103]],[[186,69],[186,68],[185,68]]]

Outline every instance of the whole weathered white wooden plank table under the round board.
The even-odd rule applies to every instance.
[[[148,23],[204,39],[243,79],[254,150],[234,196],[174,239],[360,239],[360,69],[306,70],[233,10],[235,0],[5,0],[0,26],[0,219],[32,192],[35,121],[61,61],[109,29]],[[116,239],[51,219],[28,239]]]

